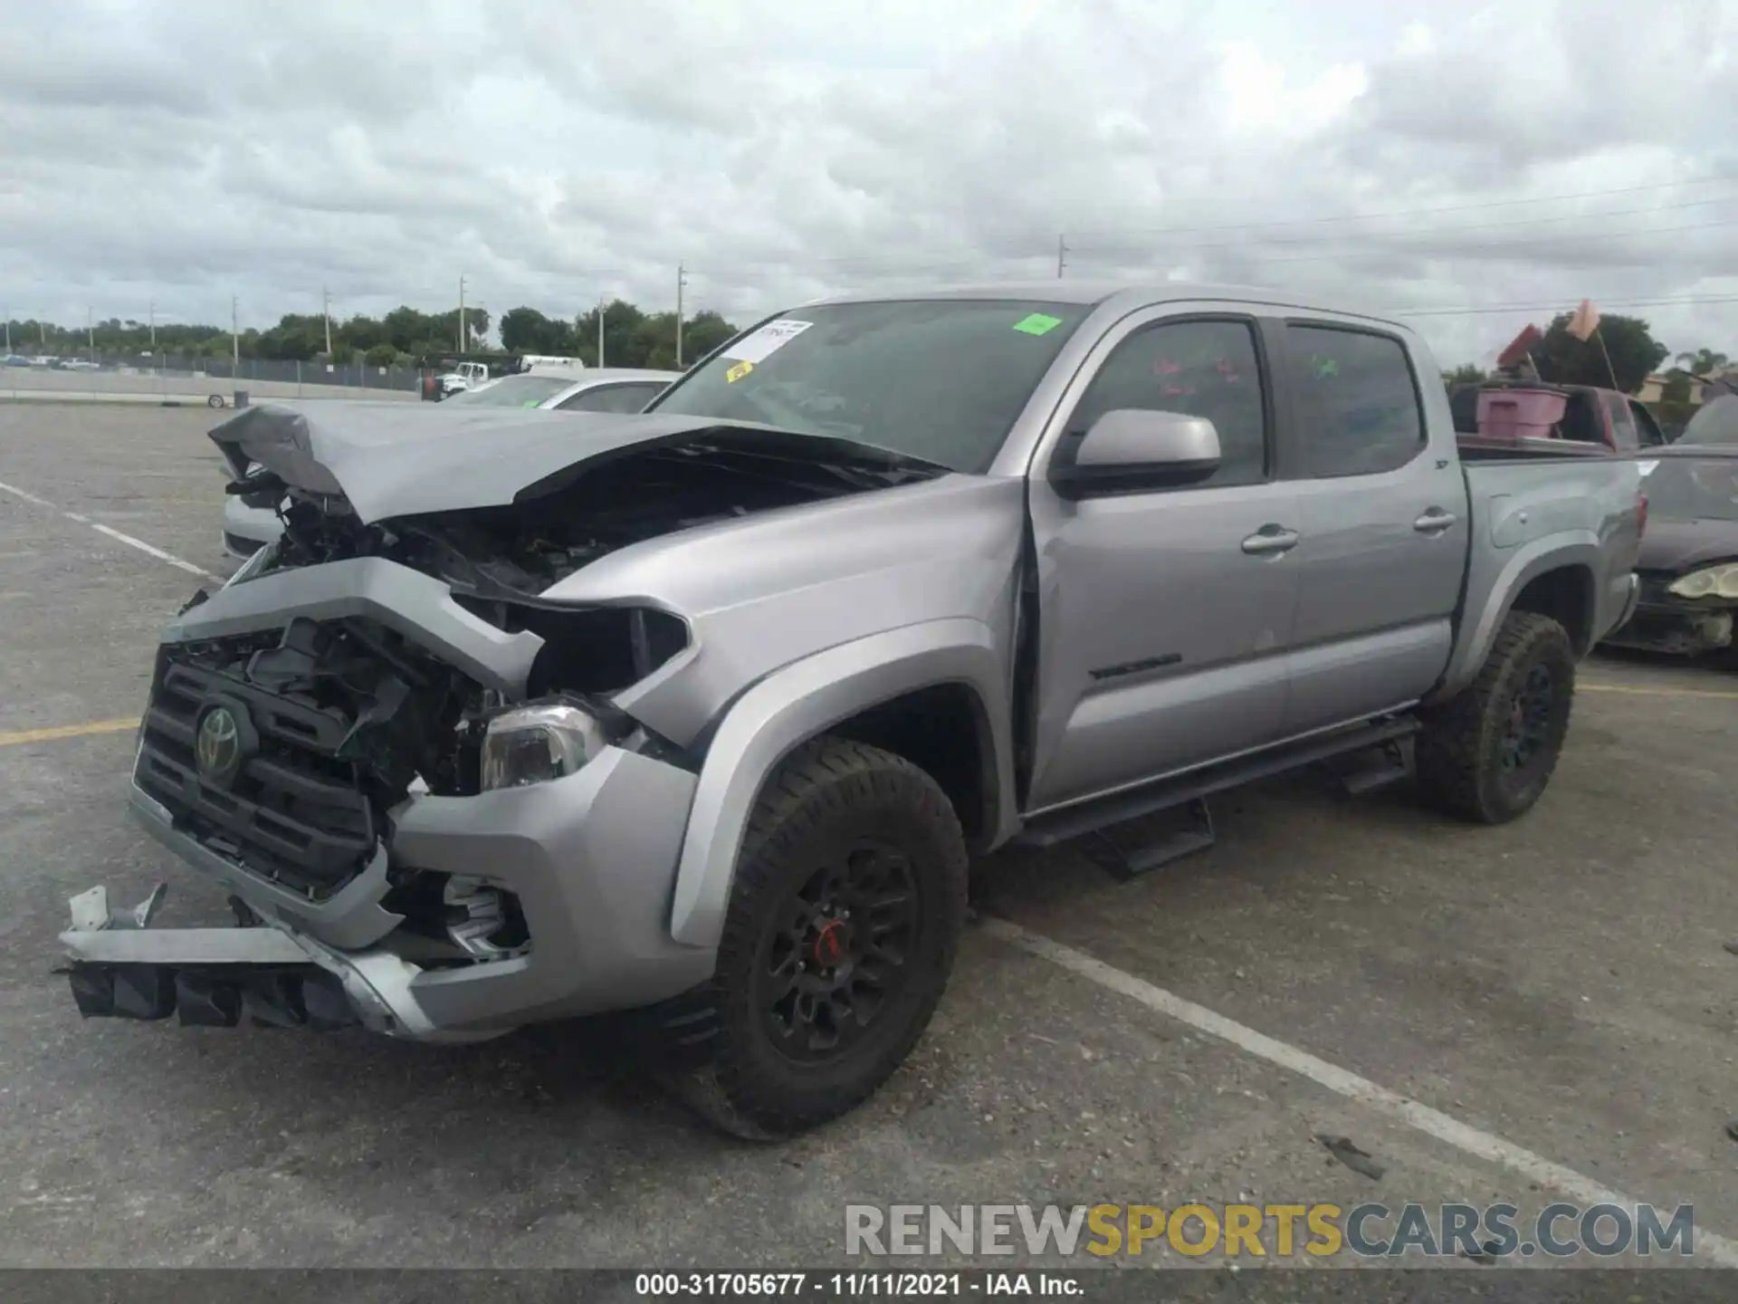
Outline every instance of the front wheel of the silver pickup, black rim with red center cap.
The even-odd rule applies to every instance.
[[[709,993],[716,1050],[680,1095],[756,1141],[848,1113],[928,1026],[965,911],[940,786],[879,748],[805,744],[749,817]]]

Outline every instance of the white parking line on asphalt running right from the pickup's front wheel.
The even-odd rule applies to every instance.
[[[1071,946],[1064,946],[1062,942],[1053,942],[1041,934],[1029,932],[1018,923],[985,918],[982,928],[991,935],[1020,948],[1027,955],[1048,960],[1071,974],[1078,974],[1079,977],[1097,982],[1100,988],[1109,988],[1123,996],[1131,996],[1151,1010],[1170,1015],[1171,1019],[1189,1024],[1208,1036],[1217,1036],[1220,1041],[1229,1041],[1257,1059],[1265,1059],[1269,1064],[1277,1064],[1283,1069],[1290,1069],[1291,1073],[1309,1078],[1310,1081],[1321,1083],[1330,1092],[1337,1092],[1349,1101],[1357,1101],[1359,1104],[1383,1113],[1389,1118],[1418,1128],[1425,1135],[1444,1141],[1467,1154],[1476,1154],[1481,1160],[1498,1163],[1503,1168],[1538,1182],[1540,1186],[1561,1191],[1583,1207],[1627,1205],[1634,1208],[1639,1203],[1634,1196],[1627,1196],[1609,1186],[1601,1186],[1592,1177],[1583,1177],[1573,1168],[1564,1168],[1561,1163],[1554,1163],[1543,1154],[1535,1154],[1533,1151],[1510,1144],[1498,1135],[1469,1127],[1456,1118],[1449,1118],[1439,1109],[1420,1104],[1418,1101],[1401,1095],[1399,1092],[1390,1092],[1387,1087],[1378,1087],[1368,1078],[1359,1078],[1356,1073],[1349,1073],[1347,1069],[1330,1064],[1324,1059],[1317,1059],[1307,1050],[1298,1050],[1284,1041],[1276,1041],[1265,1033],[1244,1028],[1234,1019],[1215,1014],[1204,1005],[1196,1005],[1194,1001],[1184,1000],[1164,988],[1156,988],[1133,974],[1112,968],[1102,960],[1093,960],[1090,955],[1076,951]],[[1719,1267],[1738,1267],[1738,1241],[1717,1236],[1698,1226],[1696,1257]]]

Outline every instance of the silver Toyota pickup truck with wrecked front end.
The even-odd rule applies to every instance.
[[[163,631],[130,789],[236,927],[92,888],[78,1007],[615,1012],[782,1135],[909,1052],[1005,843],[1168,812],[1093,840],[1135,873],[1330,758],[1512,819],[1646,502],[1622,457],[1463,459],[1437,376],[1380,316],[1048,282],[794,308],[638,416],[238,412],[283,536]]]

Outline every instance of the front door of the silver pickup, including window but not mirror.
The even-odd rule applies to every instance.
[[[1071,383],[1060,442],[1029,480],[1041,574],[1029,810],[1274,741],[1298,527],[1276,473],[1270,348],[1248,315],[1147,309]],[[1046,466],[1119,409],[1211,419],[1218,469],[1192,485],[1058,497]]]

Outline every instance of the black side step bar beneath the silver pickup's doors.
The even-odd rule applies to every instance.
[[[1206,850],[1213,845],[1213,817],[1206,805],[1206,798],[1213,793],[1241,788],[1257,779],[1286,774],[1307,765],[1317,765],[1354,751],[1380,748],[1383,760],[1378,767],[1357,775],[1347,775],[1349,791],[1368,791],[1404,774],[1403,767],[1396,768],[1399,763],[1399,742],[1416,732],[1416,720],[1399,716],[1298,739],[1297,742],[1270,748],[1251,756],[1239,756],[1237,760],[1191,770],[1171,779],[1159,779],[1133,791],[1083,802],[1078,807],[1067,807],[1050,815],[1036,815],[1013,838],[1013,845],[1055,847],[1086,835],[1098,835],[1091,843],[1083,847],[1088,857],[1105,864],[1118,876],[1145,873],[1158,869],[1161,864],[1170,864],[1180,855]],[[1375,779],[1375,782],[1370,782],[1370,779]],[[1149,838],[1144,845],[1131,847],[1124,847],[1104,835],[1105,829],[1118,824],[1177,807],[1191,807],[1192,828],[1184,828],[1161,838]]]

